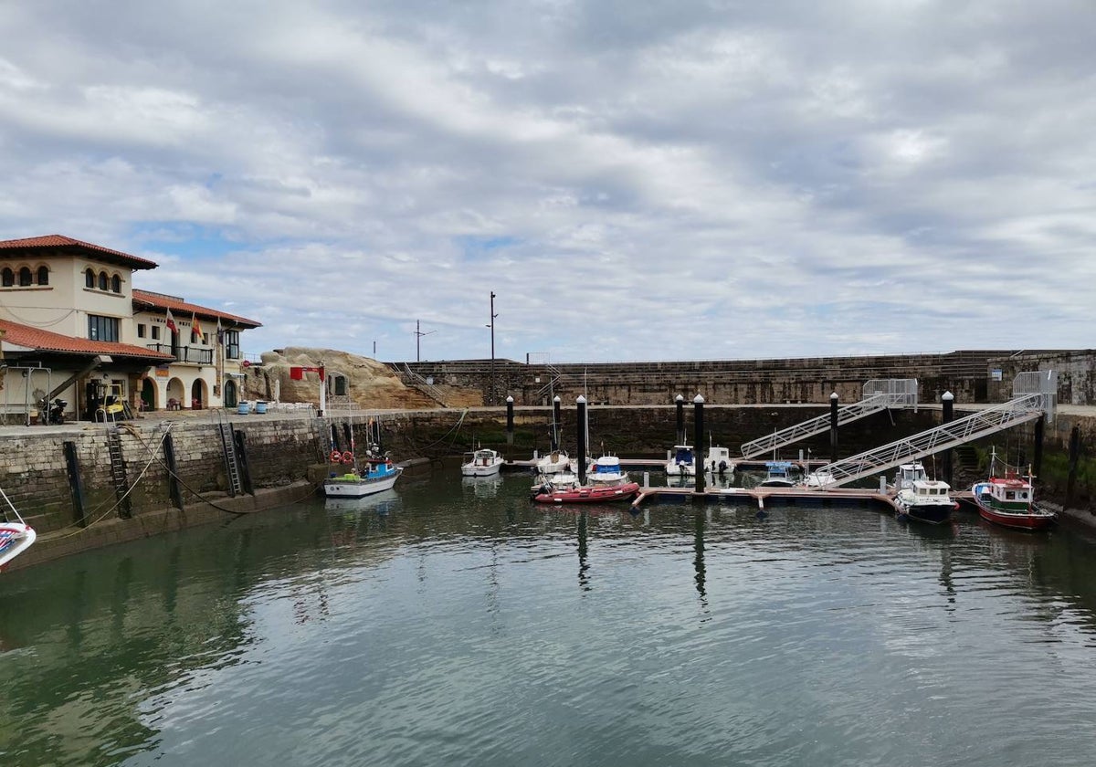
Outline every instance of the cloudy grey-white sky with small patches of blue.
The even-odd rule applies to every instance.
[[[1092,0],[0,2],[0,239],[244,352],[1093,347]],[[496,317],[492,323],[491,295]]]

